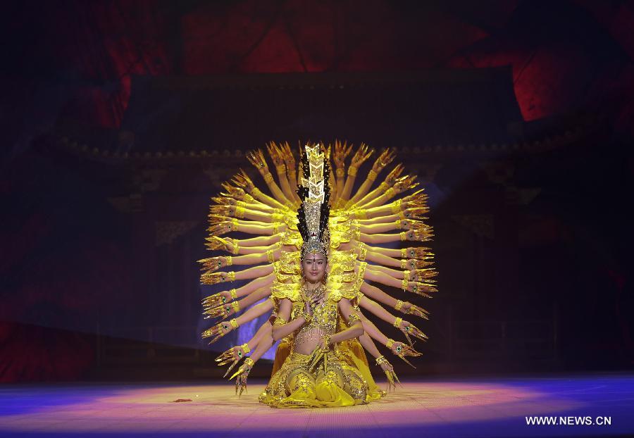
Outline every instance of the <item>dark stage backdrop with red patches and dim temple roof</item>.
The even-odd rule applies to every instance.
[[[428,190],[440,292],[399,373],[632,368],[633,2],[2,19],[0,382],[218,376],[194,261],[209,196],[271,139],[394,146]]]

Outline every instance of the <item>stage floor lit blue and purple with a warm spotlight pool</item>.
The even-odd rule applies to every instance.
[[[331,409],[268,408],[264,384],[240,399],[230,382],[4,385],[0,437],[634,436],[634,375],[405,379],[385,399]]]

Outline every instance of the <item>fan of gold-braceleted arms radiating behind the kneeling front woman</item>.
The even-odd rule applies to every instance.
[[[356,184],[359,168],[375,155],[375,150],[366,144],[355,148],[340,141],[328,146],[320,143],[307,146],[320,148],[326,162],[330,163],[327,182],[330,187],[330,293],[350,299],[361,315],[365,333],[359,343],[383,369],[390,388],[399,381],[375,342],[411,365],[407,356],[421,356],[414,349],[413,338],[423,342],[428,339],[410,320],[428,320],[429,312],[407,300],[407,296],[431,298],[437,292],[437,283],[433,280],[437,275],[433,268],[434,254],[428,246],[421,246],[433,237],[432,227],[425,223],[429,211],[427,195],[423,189],[416,190],[416,175],[403,175],[404,166],[400,163],[392,165],[383,182],[377,184],[379,175],[396,158],[392,149],[384,149],[378,154],[372,169],[353,193],[353,188],[359,185]],[[300,154],[301,148],[300,144]],[[222,184],[223,192],[211,198],[206,247],[217,251],[218,255],[199,260],[204,271],[200,277],[202,284],[226,283],[229,289],[202,300],[204,318],[220,318],[216,325],[202,332],[204,339],[210,339],[209,344],[261,315],[271,315],[249,342],[233,346],[216,358],[218,365],[230,365],[225,376],[244,359],[230,377],[236,378],[236,392],[240,389],[240,394],[246,389],[247,376],[254,363],[273,344],[271,322],[280,300],[299,299],[302,284],[297,189],[307,173],[301,162],[299,166],[296,164],[294,151],[288,143],[270,142],[266,151],[268,160],[261,149],[247,155],[264,184],[256,187],[251,177],[240,169],[230,181]],[[271,173],[269,163],[273,163],[277,177]],[[230,237],[235,232],[253,237]],[[385,247],[398,244],[402,248]],[[250,267],[234,272],[232,265]],[[237,280],[249,282],[231,288],[229,284]],[[256,304],[262,299],[266,301]],[[241,311],[240,316],[232,318]],[[371,318],[399,329],[405,342],[387,337]],[[292,337],[283,339],[278,346],[276,364],[282,362],[278,358],[290,351],[289,344],[292,344]],[[341,348],[351,347],[347,342]],[[367,363],[363,349],[355,354],[357,358],[363,356],[361,360]]]

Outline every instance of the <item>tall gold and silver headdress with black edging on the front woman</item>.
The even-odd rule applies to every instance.
[[[328,258],[330,232],[330,166],[320,144],[306,144],[302,150],[302,184],[297,189],[302,205],[297,210],[297,230],[302,234],[302,260],[306,254],[321,252]]]

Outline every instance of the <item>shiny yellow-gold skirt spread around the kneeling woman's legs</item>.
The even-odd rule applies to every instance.
[[[273,408],[342,407],[385,395],[372,378],[359,342],[338,344],[336,351],[329,353],[327,365],[321,362],[313,370],[309,369],[309,355],[291,349],[284,342],[278,347],[274,373],[259,396],[261,403]]]

